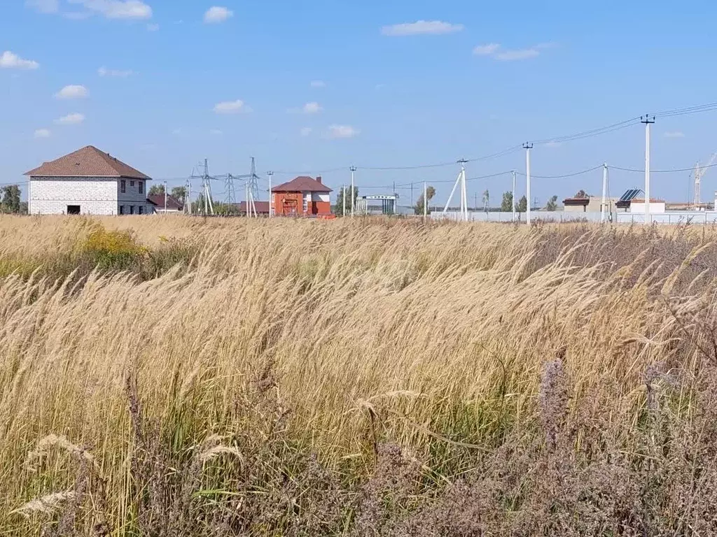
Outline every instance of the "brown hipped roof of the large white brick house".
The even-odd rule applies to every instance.
[[[151,179],[126,165],[121,160],[87,145],[39,168],[25,173],[30,177],[123,177],[128,179]]]

